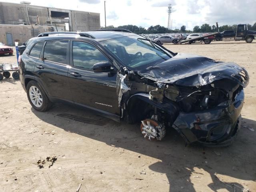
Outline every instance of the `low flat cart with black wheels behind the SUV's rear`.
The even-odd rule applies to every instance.
[[[18,73],[18,64],[17,63],[0,63],[0,80],[3,80],[3,78],[9,78],[12,73],[12,78],[19,79],[20,74]]]

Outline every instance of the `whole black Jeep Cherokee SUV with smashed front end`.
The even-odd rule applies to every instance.
[[[169,128],[186,143],[224,146],[240,129],[247,71],[174,53],[128,30],[42,33],[20,63],[32,107],[69,102],[114,120],[141,122],[149,140]]]

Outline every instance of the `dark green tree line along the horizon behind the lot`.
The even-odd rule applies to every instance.
[[[236,30],[236,24],[234,25],[223,25],[219,26],[219,31],[225,30]],[[253,25],[247,24],[248,30],[255,30],[256,31],[256,23]],[[202,26],[194,26],[193,30],[186,30],[186,26],[183,25],[180,29],[169,30],[168,28],[160,25],[150,26],[148,29],[142,26],[136,25],[122,25],[118,27],[114,27],[113,25],[105,27],[101,27],[101,29],[127,29],[136,34],[156,34],[156,33],[207,33],[207,32],[218,32],[217,27],[215,25],[210,26],[209,24],[205,23]]]

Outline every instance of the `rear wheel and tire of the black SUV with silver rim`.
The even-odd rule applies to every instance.
[[[50,102],[48,96],[38,82],[31,80],[28,82],[26,90],[30,105],[35,110],[44,112],[51,108],[52,102]]]

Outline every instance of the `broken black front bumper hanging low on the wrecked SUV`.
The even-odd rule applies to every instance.
[[[206,146],[227,146],[240,130],[244,91],[241,90],[230,106],[217,106],[200,112],[181,112],[173,127],[187,143]]]

